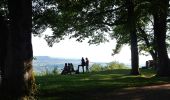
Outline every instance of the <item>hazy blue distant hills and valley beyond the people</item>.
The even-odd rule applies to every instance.
[[[33,61],[34,71],[36,73],[52,71],[54,68],[58,70],[63,69],[65,63],[73,63],[74,68],[77,69],[77,66],[81,63],[81,59],[64,59],[64,58],[53,58],[49,56],[35,56]],[[92,65],[93,62],[90,62]]]

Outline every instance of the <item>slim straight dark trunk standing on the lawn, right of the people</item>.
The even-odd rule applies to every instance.
[[[127,0],[127,10],[128,10],[128,28],[131,38],[131,74],[139,75],[139,57],[138,57],[138,45],[137,45],[137,34],[136,34],[136,22],[134,15],[134,1]]]

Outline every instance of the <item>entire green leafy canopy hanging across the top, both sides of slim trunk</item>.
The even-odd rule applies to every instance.
[[[153,18],[155,11],[153,0],[133,0],[134,20],[138,35],[139,51],[153,50]],[[51,28],[52,35],[46,35],[49,46],[64,39],[64,36],[77,41],[89,39],[89,43],[99,44],[108,39],[117,40],[113,55],[120,52],[124,44],[130,44],[128,30],[127,4],[124,0],[33,0],[33,33],[41,34]],[[150,27],[151,28],[148,28]],[[149,45],[145,43],[138,28],[142,28]],[[108,34],[109,33],[109,34]],[[168,42],[167,42],[168,43]],[[145,53],[144,52],[144,53]],[[141,54],[144,54],[141,52]]]

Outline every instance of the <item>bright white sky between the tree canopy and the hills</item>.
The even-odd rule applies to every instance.
[[[47,30],[46,33],[50,31]],[[124,64],[131,63],[131,52],[129,46],[124,46],[121,52],[112,56],[112,49],[115,47],[115,40],[101,43],[100,45],[89,45],[87,40],[84,42],[77,42],[75,39],[68,39],[55,43],[53,47],[49,47],[43,36],[33,37],[33,54],[34,56],[50,56],[56,58],[73,58],[81,59],[88,57],[91,62],[111,62],[117,61]],[[139,56],[139,64],[144,65],[146,60],[151,59],[150,56]]]

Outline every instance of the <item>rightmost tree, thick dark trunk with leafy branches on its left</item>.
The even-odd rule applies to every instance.
[[[167,54],[167,17],[168,17],[168,8],[169,8],[169,0],[164,0],[163,2],[159,1],[144,1],[146,4],[144,5],[145,11],[144,15],[147,18],[147,15],[153,16],[151,17],[153,20],[153,34],[147,35],[145,32],[145,24],[144,26],[139,25],[137,26],[137,31],[140,33],[138,37],[145,42],[145,45],[140,45],[142,49],[147,48],[146,50],[150,52],[151,56],[153,57],[156,67],[157,67],[157,75],[158,76],[169,76],[170,67],[169,67],[169,57]],[[143,27],[143,29],[142,29]],[[117,28],[120,30],[119,28]],[[126,38],[126,36],[123,36]],[[150,40],[149,40],[149,38]],[[124,39],[126,40],[126,39]],[[122,41],[122,40],[121,40]],[[141,40],[138,40],[138,42]],[[122,42],[121,42],[122,43]],[[124,41],[127,43],[127,41]],[[114,50],[115,53],[120,51],[120,44],[118,44],[117,48]]]

